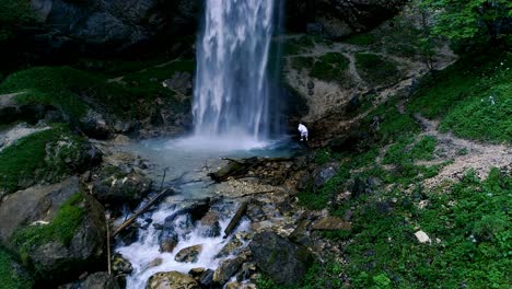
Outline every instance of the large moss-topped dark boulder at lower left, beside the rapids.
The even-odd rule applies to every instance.
[[[83,194],[73,195],[69,201],[66,212],[59,210],[56,215],[60,219],[42,219],[31,224],[37,229],[21,229],[9,244],[35,268],[37,279],[65,281],[104,263],[103,207]]]

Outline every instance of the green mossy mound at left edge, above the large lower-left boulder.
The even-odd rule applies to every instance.
[[[63,141],[67,146],[48,158],[46,150]],[[68,146],[69,144],[69,146]],[[83,139],[65,126],[55,126],[16,141],[0,152],[0,190],[13,193],[33,182],[57,181],[69,174],[67,159],[81,153]]]

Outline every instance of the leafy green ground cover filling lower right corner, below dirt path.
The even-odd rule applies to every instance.
[[[341,273],[351,288],[508,288],[511,185],[510,175],[493,169],[481,182],[468,172],[442,194],[417,186],[409,194],[394,189],[351,199],[333,212],[350,207],[354,213],[352,231],[335,236],[350,241],[350,262],[316,265],[293,288],[345,288]],[[420,200],[428,204],[422,209],[415,205]],[[418,230],[431,243],[419,243]]]

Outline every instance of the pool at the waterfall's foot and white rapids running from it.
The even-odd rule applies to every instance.
[[[176,270],[187,274],[190,269],[200,267],[214,270],[229,257],[219,257],[219,252],[234,235],[249,231],[249,222],[243,218],[236,230],[229,238],[223,238],[223,231],[240,206],[240,199],[224,198],[226,184],[213,184],[207,173],[217,171],[225,163],[221,158],[290,157],[299,149],[291,143],[289,138],[254,142],[226,139],[202,141],[193,137],[147,140],[125,147],[126,151],[136,153],[152,164],[148,173],[156,185],[155,189],[160,188],[165,167],[164,186],[175,189],[174,194],[137,219],[137,241],[127,244],[117,239],[115,252],[121,254],[133,267],[127,278],[127,288],[144,288],[148,279],[160,271]],[[219,199],[212,201],[209,208],[209,216],[216,216],[218,222],[203,224],[183,209],[190,208],[207,197]],[[123,222],[128,216],[129,213],[116,222]],[[175,247],[172,252],[161,252],[163,240],[173,240]],[[191,257],[191,262],[175,259],[181,250],[195,245],[201,245],[202,250]]]

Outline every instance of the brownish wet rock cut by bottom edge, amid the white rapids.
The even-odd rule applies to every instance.
[[[146,285],[146,289],[200,289],[193,277],[178,273],[165,271],[151,276]]]

